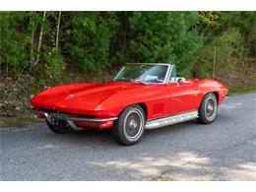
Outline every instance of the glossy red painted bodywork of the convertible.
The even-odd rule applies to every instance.
[[[47,109],[97,118],[118,117],[132,104],[141,104],[147,121],[198,109],[203,96],[215,93],[221,104],[228,89],[215,80],[186,79],[186,83],[148,84],[132,82],[81,83],[50,88],[31,100],[36,110]],[[113,120],[82,127],[110,128]]]

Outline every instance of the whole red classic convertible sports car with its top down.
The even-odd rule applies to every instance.
[[[171,64],[134,63],[125,65],[109,83],[57,86],[31,102],[55,133],[112,129],[119,144],[133,145],[145,129],[191,119],[212,123],[227,91],[215,80],[176,77]]]

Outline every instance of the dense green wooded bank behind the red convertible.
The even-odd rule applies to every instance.
[[[129,62],[173,63],[180,76],[255,85],[256,12],[2,12],[0,28],[2,114],[19,96],[107,81]]]

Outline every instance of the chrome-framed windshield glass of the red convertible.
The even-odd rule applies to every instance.
[[[167,69],[166,65],[128,64],[113,81],[163,83]]]

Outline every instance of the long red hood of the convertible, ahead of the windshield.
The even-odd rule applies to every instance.
[[[72,84],[50,88],[32,98],[35,108],[60,111],[78,111],[86,108],[96,110],[109,96],[127,90],[138,89],[144,85],[129,82],[110,82],[93,84]]]

